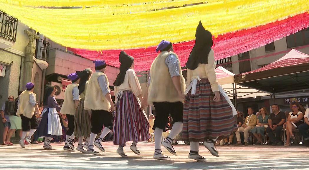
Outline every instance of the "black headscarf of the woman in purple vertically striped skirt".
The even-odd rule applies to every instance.
[[[124,51],[120,52],[119,54],[120,72],[117,75],[117,78],[114,82],[114,86],[119,86],[123,83],[123,81],[125,80],[125,73],[131,67],[133,61],[134,61],[134,58],[129,56],[126,52]]]

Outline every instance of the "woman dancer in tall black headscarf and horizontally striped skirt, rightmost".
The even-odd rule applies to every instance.
[[[215,73],[212,34],[205,30],[201,21],[195,33],[195,45],[187,66],[187,89],[184,101],[184,125],[182,139],[190,141],[189,158],[206,161],[198,154],[199,142],[214,156],[219,136],[228,136],[237,128],[233,111],[220,94]]]

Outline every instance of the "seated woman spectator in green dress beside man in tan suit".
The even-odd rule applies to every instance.
[[[266,107],[260,109],[260,115],[257,118],[256,127],[251,130],[251,133],[257,138],[256,144],[263,145],[262,136],[265,137],[265,127],[268,127],[269,118]]]

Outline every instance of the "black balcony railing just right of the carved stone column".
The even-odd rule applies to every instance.
[[[36,39],[36,59],[48,62],[48,56],[49,42],[42,39]]]

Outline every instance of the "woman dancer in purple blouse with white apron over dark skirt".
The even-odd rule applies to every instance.
[[[58,115],[61,107],[54,97],[55,93],[56,89],[54,86],[47,86],[45,88],[42,120],[38,128],[39,137],[45,137],[43,148],[47,150],[52,149],[50,145],[52,136],[62,136],[62,127]]]

